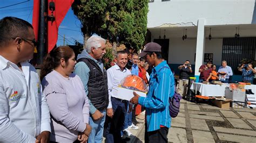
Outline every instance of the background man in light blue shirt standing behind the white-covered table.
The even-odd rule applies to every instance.
[[[233,75],[232,69],[230,66],[227,66],[227,61],[222,61],[221,65],[222,66],[219,67],[218,73],[219,73],[219,76],[223,77],[223,78],[219,78],[219,80],[221,82],[228,83],[230,76]],[[225,73],[225,74],[221,74],[221,73]],[[224,78],[225,78],[225,80],[224,80]],[[223,79],[223,80],[221,80],[221,79]]]

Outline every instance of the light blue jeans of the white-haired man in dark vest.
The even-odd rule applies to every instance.
[[[104,116],[98,120],[93,120],[92,116],[89,117],[89,124],[92,127],[91,134],[88,138],[88,143],[101,143],[103,139],[103,128],[106,118],[106,110],[100,111]]]

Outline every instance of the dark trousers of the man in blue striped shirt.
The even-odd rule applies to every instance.
[[[168,127],[161,127],[160,129],[152,132],[147,132],[147,124],[145,124],[145,143],[162,143],[162,142],[168,142],[167,134],[168,134],[169,128]]]

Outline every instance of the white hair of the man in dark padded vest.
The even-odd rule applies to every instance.
[[[86,51],[91,53],[92,47],[97,49],[102,46],[102,42],[106,43],[106,40],[99,37],[98,35],[92,35],[86,42]]]

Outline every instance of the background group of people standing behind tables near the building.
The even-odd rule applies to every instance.
[[[211,61],[208,61],[205,65],[201,65],[199,68],[199,82],[234,82],[231,80],[233,71],[230,66],[227,66],[227,61],[222,61],[218,70],[216,68],[216,65],[213,65]],[[190,61],[186,60],[184,65],[180,65],[178,69],[180,70],[178,93],[185,97],[187,93],[188,77],[190,77],[190,74],[193,71],[190,65]],[[256,67],[253,68],[252,63],[242,64],[238,70],[242,72],[241,82],[256,84]]]

